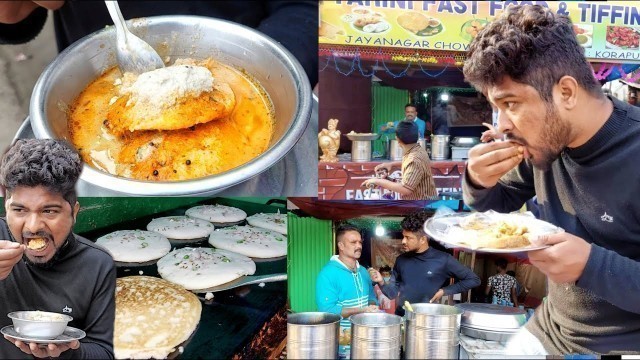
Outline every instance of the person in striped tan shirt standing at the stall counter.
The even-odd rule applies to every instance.
[[[382,163],[375,167],[378,172],[386,169],[388,172],[394,167],[401,167],[402,182],[396,183],[386,179],[368,179],[362,186],[380,186],[384,189],[400,194],[402,200],[424,200],[438,195],[436,185],[431,176],[431,162],[429,155],[418,144],[418,126],[410,121],[401,121],[396,126],[396,138],[402,147],[402,162]]]

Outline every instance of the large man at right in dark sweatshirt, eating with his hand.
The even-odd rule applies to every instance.
[[[488,24],[464,75],[508,140],[469,151],[465,203],[510,212],[536,196],[565,230],[528,252],[547,301],[507,355],[640,353],[640,110],[605,96],[571,20],[539,5]]]

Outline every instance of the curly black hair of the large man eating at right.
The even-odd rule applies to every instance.
[[[594,97],[604,96],[569,17],[540,5],[508,6],[473,40],[463,73],[482,92],[507,75],[535,88],[547,104],[567,75]]]

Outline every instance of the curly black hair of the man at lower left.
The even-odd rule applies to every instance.
[[[0,185],[5,188],[7,198],[20,186],[44,186],[60,194],[73,208],[81,171],[80,156],[62,140],[17,140],[0,161]]]

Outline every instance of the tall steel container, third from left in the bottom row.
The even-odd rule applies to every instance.
[[[407,359],[457,359],[462,310],[440,304],[411,304],[406,312]]]

